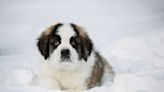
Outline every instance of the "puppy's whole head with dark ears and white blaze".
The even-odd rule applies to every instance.
[[[58,23],[49,27],[38,39],[40,53],[55,67],[87,62],[93,44],[87,33],[75,24]]]

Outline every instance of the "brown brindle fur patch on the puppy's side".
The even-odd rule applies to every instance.
[[[99,53],[95,53],[95,54],[96,54],[96,61],[92,70],[92,75],[88,79],[88,88],[100,86],[101,79],[104,73],[103,58],[99,55]]]

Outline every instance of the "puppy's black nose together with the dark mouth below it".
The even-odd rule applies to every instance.
[[[69,49],[62,49],[61,50],[61,62],[70,62],[70,50]]]

